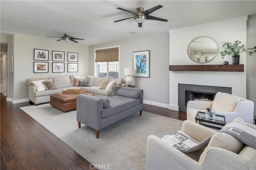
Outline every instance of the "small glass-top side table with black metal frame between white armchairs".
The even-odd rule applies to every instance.
[[[196,123],[199,123],[200,125],[218,130],[220,130],[224,125],[226,125],[225,116],[216,115],[214,119],[207,118],[205,113],[202,111],[197,112],[195,119]]]

